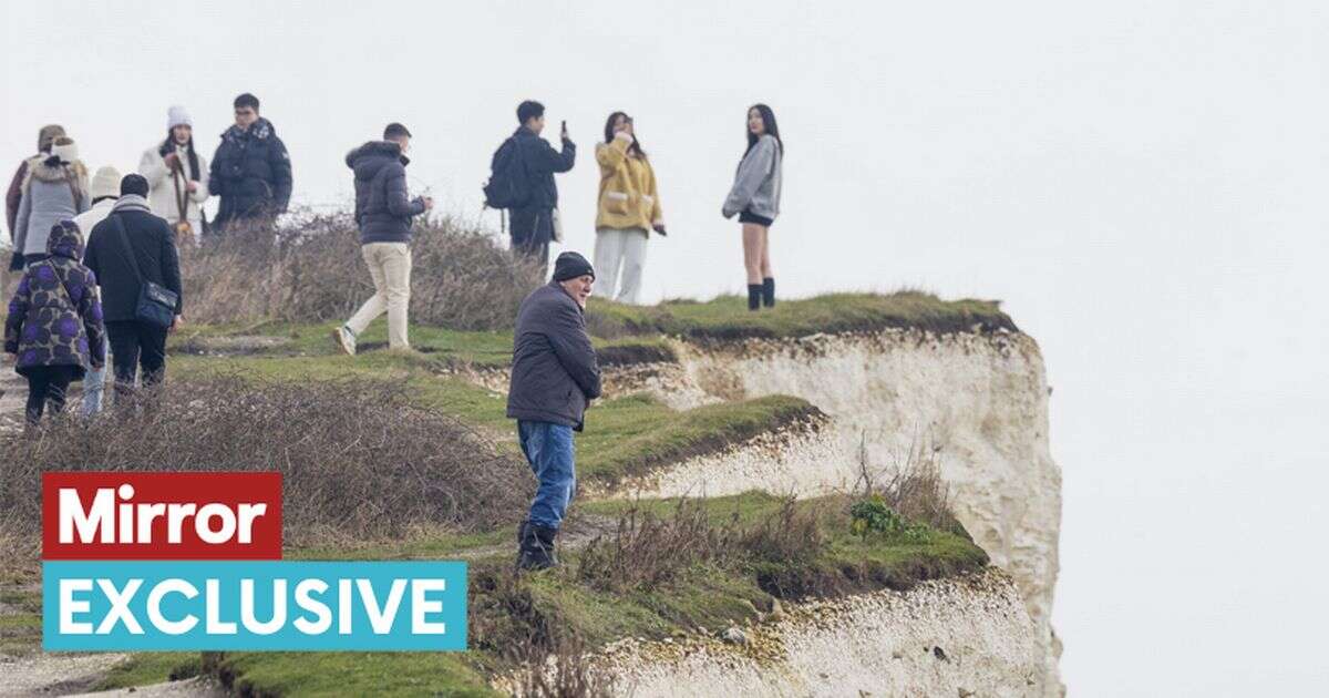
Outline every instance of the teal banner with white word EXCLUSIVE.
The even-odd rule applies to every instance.
[[[466,649],[457,561],[47,561],[43,647]]]

